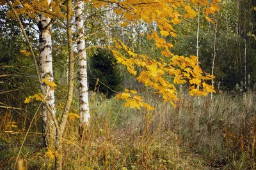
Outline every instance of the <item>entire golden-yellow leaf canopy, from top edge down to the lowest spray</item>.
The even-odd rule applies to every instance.
[[[138,24],[154,24],[156,29],[150,29],[147,33],[148,39],[153,39],[157,48],[161,49],[161,57],[152,59],[146,55],[134,53],[129,46],[116,40],[115,46],[109,46],[116,60],[127,67],[127,71],[136,76],[139,82],[144,83],[148,87],[156,90],[156,93],[163,96],[164,101],[169,101],[175,106],[177,101],[177,90],[173,84],[184,84],[187,81],[191,84],[189,89],[192,96],[206,96],[208,92],[214,92],[213,87],[205,83],[205,80],[211,80],[214,76],[204,73],[198,66],[198,58],[196,56],[184,57],[178,56],[170,52],[173,47],[172,43],[166,41],[167,36],[175,37],[175,29],[173,25],[180,24],[182,18],[193,18],[198,11],[195,9],[204,7],[205,17],[211,21],[209,14],[218,11],[218,3],[220,0],[92,0],[84,1],[89,3],[93,8],[107,8],[112,6],[116,15],[123,17],[118,24],[121,27],[127,25]],[[34,20],[38,20],[37,14],[46,15],[46,17],[56,20],[65,21],[67,9],[63,5],[65,1],[51,1],[48,6],[47,1],[19,1],[14,0],[13,5],[19,6],[20,14],[26,14]],[[195,9],[194,9],[195,8]],[[9,13],[9,17],[12,13]],[[71,13],[74,15],[74,13]],[[65,24],[65,22],[63,22]],[[122,52],[121,52],[122,51]],[[155,57],[156,58],[156,57]],[[137,73],[136,68],[140,67],[141,72]],[[201,87],[201,90],[195,86]],[[132,95],[131,95],[132,94]],[[125,99],[125,106],[140,109],[144,106],[148,110],[153,108],[143,103],[143,98],[134,96],[133,92],[125,92],[116,96],[118,99]]]

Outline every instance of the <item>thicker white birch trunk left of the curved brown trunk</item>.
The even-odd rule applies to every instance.
[[[51,0],[47,0],[48,5],[51,4]],[[45,17],[44,15],[40,16],[40,78],[47,79],[47,81],[53,81],[53,72],[52,72],[52,38],[51,38],[51,18]],[[49,93],[47,97],[47,102],[49,103],[51,112],[55,115],[55,99],[54,99],[54,90],[49,86],[45,85],[44,82],[41,82],[41,89],[45,94]],[[46,103],[42,104],[42,131],[44,138],[44,146],[52,146],[54,143],[55,136],[55,126],[51,118],[49,111],[47,110]]]

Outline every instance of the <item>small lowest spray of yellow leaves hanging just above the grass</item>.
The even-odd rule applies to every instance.
[[[126,103],[124,104],[125,107],[137,108],[138,110],[140,110],[141,107],[144,107],[148,111],[155,110],[154,107],[143,102],[143,97],[136,94],[137,92],[135,90],[125,89],[125,92],[123,92],[122,94],[117,94],[115,98],[124,99],[126,101]]]

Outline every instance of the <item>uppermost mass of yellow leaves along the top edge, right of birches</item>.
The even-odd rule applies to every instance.
[[[202,8],[201,11],[205,12],[205,18],[212,22],[209,18],[209,14],[218,11],[218,3],[220,3],[220,0],[92,0],[91,2],[95,8],[104,8],[109,6],[109,4],[114,4],[116,6],[114,12],[124,16],[124,20],[121,24],[122,27],[140,24],[141,20],[148,24],[154,22],[159,28],[160,34],[151,29],[150,31],[152,33],[147,37],[154,39],[156,46],[162,50],[162,55],[169,57],[172,54],[169,48],[172,48],[173,45],[166,42],[164,37],[169,35],[173,37],[177,36],[172,25],[180,24],[182,18],[195,17],[198,13],[198,11],[196,11],[198,8]],[[179,8],[179,10],[177,10],[177,8]]]

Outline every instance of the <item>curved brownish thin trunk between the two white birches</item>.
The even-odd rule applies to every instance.
[[[68,96],[65,103],[65,108],[62,113],[60,127],[56,129],[56,143],[55,150],[60,157],[55,157],[55,169],[62,169],[62,138],[67,124],[68,113],[73,99],[74,92],[74,50],[72,43],[72,0],[67,0],[67,41],[68,41]]]

